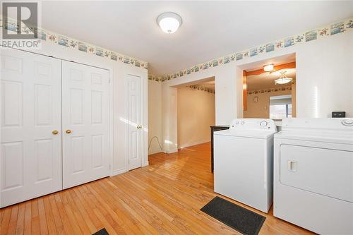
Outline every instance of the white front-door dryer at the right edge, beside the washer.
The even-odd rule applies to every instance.
[[[275,217],[353,234],[353,119],[284,119],[274,145]]]

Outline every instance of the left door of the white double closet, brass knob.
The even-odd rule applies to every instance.
[[[15,49],[0,53],[4,207],[62,188],[61,60]]]

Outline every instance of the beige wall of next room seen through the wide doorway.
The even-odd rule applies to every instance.
[[[215,125],[215,94],[191,88],[178,88],[178,148],[210,141]]]

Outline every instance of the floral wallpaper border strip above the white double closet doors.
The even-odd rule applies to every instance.
[[[2,16],[0,15],[0,27],[5,27],[7,30],[11,30],[16,32],[20,25],[17,24],[16,20],[8,20],[8,22],[2,22]],[[38,39],[44,40],[47,42],[51,42],[53,44],[58,44],[62,47],[68,47],[71,49],[76,49],[80,52],[85,52],[88,54],[93,54],[95,56],[101,56],[107,59],[111,59],[113,61],[119,61],[124,64],[130,64],[131,66],[136,66],[139,68],[148,69],[148,63],[145,61],[140,61],[138,59],[132,58],[130,56],[125,56],[123,54],[119,54],[117,52],[113,52],[109,49],[104,49],[102,47],[97,47],[93,44],[89,44],[87,42],[83,42],[80,40],[73,39],[71,37],[67,37],[64,35],[60,35],[56,32],[52,32],[49,30],[44,30],[42,28],[34,28],[26,26],[25,24],[21,25],[21,32],[29,34],[30,32],[34,32],[36,30],[38,33]]]

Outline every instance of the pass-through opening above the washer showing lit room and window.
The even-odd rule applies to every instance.
[[[273,59],[270,64],[243,72],[244,118],[282,119],[296,116],[295,56],[287,61]],[[269,68],[265,68],[267,66]]]

